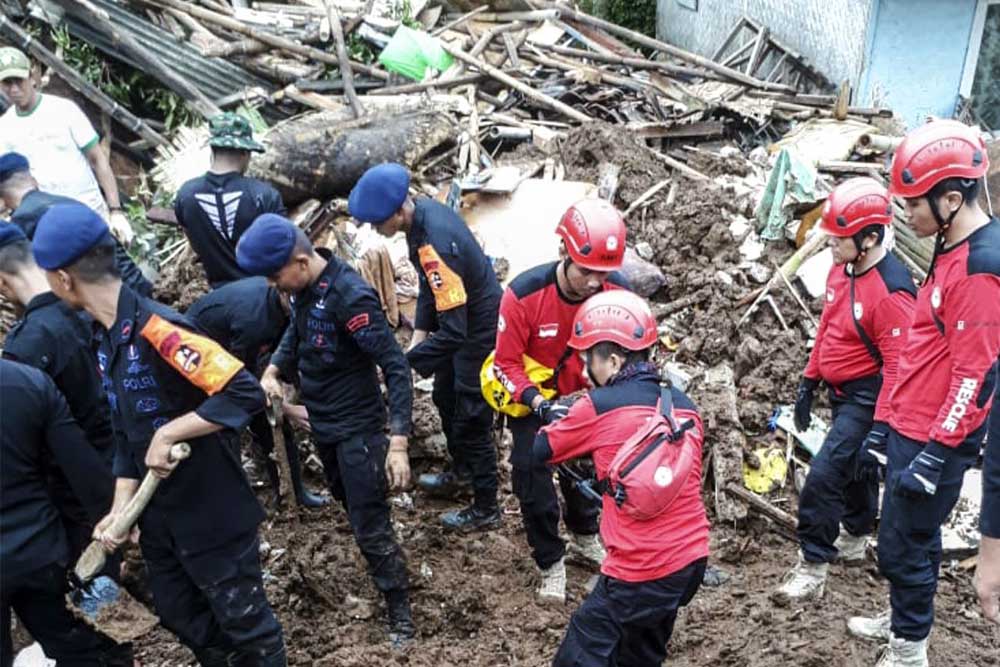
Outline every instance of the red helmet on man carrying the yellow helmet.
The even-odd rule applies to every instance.
[[[574,264],[591,271],[617,271],[625,257],[625,220],[603,199],[581,199],[563,213],[556,234]]]

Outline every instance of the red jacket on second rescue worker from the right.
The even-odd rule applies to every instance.
[[[881,370],[875,419],[886,421],[888,397],[896,384],[897,360],[913,317],[916,294],[909,271],[891,253],[856,276],[842,266],[831,268],[816,344],[804,375],[837,389]],[[859,325],[873,346],[871,351],[858,332]]]

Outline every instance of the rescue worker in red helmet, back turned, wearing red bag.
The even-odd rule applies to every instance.
[[[620,290],[593,296],[580,308],[572,331],[569,346],[582,353],[598,388],[539,432],[534,441],[539,462],[592,456],[598,478],[606,480],[622,443],[660,412],[664,389],[673,404],[669,414],[684,424],[683,437],[693,451],[686,475],[661,482],[661,469],[656,470],[662,492],[677,495],[652,518],[638,519],[602,494],[601,536],[608,557],[593,592],[573,613],[552,665],[658,667],[667,656],[677,612],[698,591],[708,561],[701,417],[685,394],[661,387],[649,361],[656,319],[642,298]]]

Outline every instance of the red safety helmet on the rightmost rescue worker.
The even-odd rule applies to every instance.
[[[981,178],[989,165],[977,130],[956,120],[935,120],[907,134],[896,149],[892,194],[920,197],[946,178]]]

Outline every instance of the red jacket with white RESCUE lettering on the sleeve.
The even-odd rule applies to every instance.
[[[1000,221],[940,251],[899,355],[889,424],[957,447],[989,414],[1000,356]]]

